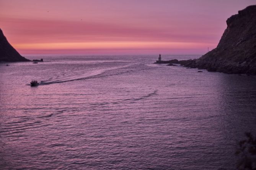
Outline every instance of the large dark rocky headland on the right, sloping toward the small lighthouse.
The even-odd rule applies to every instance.
[[[227,19],[218,46],[199,59],[169,63],[228,74],[256,75],[256,5]]]

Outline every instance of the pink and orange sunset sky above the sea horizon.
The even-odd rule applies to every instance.
[[[0,0],[21,54],[201,54],[256,0]]]

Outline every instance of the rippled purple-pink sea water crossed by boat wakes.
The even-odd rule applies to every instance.
[[[256,129],[255,76],[157,56],[27,58],[45,62],[0,64],[0,169],[234,169]]]

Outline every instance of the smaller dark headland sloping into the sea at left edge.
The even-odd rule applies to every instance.
[[[3,31],[0,29],[0,62],[30,61],[21,56],[18,51],[7,41]]]

